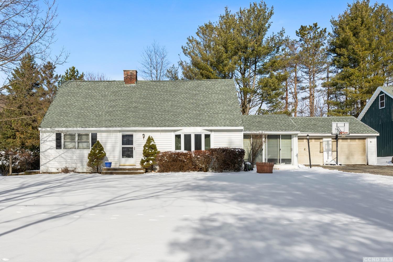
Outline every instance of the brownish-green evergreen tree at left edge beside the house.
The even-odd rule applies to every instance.
[[[22,57],[5,89],[6,107],[0,112],[0,148],[37,149],[38,126],[47,105],[42,98],[39,67],[32,55]]]

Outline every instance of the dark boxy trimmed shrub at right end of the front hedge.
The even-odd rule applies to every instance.
[[[230,148],[218,147],[210,148],[213,163],[210,167],[214,172],[240,171],[243,165],[244,149],[243,148]]]

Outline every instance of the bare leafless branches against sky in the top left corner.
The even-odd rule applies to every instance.
[[[9,70],[27,52],[47,60],[58,26],[55,1],[0,1],[0,70]]]

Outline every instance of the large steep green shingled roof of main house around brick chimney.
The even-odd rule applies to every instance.
[[[242,126],[233,79],[63,82],[41,128]]]

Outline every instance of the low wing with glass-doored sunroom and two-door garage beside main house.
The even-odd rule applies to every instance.
[[[332,123],[347,123],[350,134],[338,135],[338,163],[375,165],[378,132],[355,117],[288,117],[287,115],[243,115],[243,147],[250,144],[249,134],[266,136],[256,161],[274,162],[275,168],[309,165],[307,135],[312,165],[336,163],[336,135]]]

